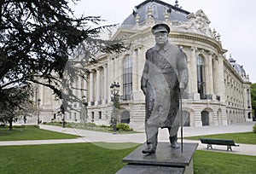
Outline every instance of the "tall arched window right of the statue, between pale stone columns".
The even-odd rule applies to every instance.
[[[205,98],[206,81],[205,81],[205,62],[201,55],[197,56],[197,91],[201,99]]]

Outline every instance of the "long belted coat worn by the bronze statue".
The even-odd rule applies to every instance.
[[[162,128],[175,125],[177,131],[179,88],[185,89],[188,81],[188,68],[181,49],[169,43],[162,49],[157,45],[148,49],[141,79],[148,125]]]

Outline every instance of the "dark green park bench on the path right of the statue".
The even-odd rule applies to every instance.
[[[211,139],[211,138],[200,138],[201,143],[207,144],[207,149],[212,148],[212,144],[227,146],[227,151],[232,151],[232,146],[238,147],[233,140],[221,140],[221,139]]]

